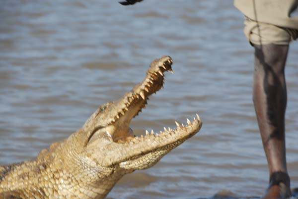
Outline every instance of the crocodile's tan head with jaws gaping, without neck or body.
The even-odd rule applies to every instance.
[[[88,132],[86,151],[90,158],[101,166],[118,166],[128,172],[146,169],[200,130],[202,122],[198,115],[192,122],[187,120],[187,125],[176,122],[175,130],[164,128],[160,134],[146,131],[145,136],[136,137],[129,127],[145,108],[149,96],[162,88],[164,72],[172,72],[172,63],[169,56],[155,59],[141,84],[93,113],[83,127]]]

